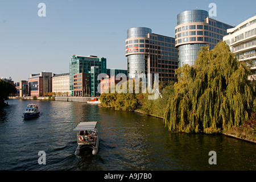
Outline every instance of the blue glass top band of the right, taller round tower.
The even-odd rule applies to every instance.
[[[188,10],[177,15],[177,25],[192,22],[205,22],[205,18],[209,16],[205,10]]]

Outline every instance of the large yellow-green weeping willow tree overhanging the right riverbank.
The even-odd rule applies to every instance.
[[[175,94],[168,100],[164,123],[171,131],[220,133],[240,126],[256,110],[250,68],[225,42],[202,47],[194,66],[176,69]]]

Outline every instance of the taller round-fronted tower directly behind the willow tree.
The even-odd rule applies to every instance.
[[[179,67],[194,65],[201,47],[209,45],[213,49],[226,30],[232,26],[209,18],[208,11],[188,10],[177,15],[175,27],[175,47],[179,51]]]

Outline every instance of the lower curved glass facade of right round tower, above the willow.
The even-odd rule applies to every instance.
[[[179,46],[179,67],[182,67],[184,64],[194,65],[198,52],[204,46],[205,44],[185,44]]]

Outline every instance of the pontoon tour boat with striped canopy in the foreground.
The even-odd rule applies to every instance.
[[[92,154],[96,155],[98,153],[98,131],[96,129],[97,121],[93,122],[80,122],[74,131],[77,131],[77,148],[75,155],[80,154],[80,150],[84,147],[92,148]]]

